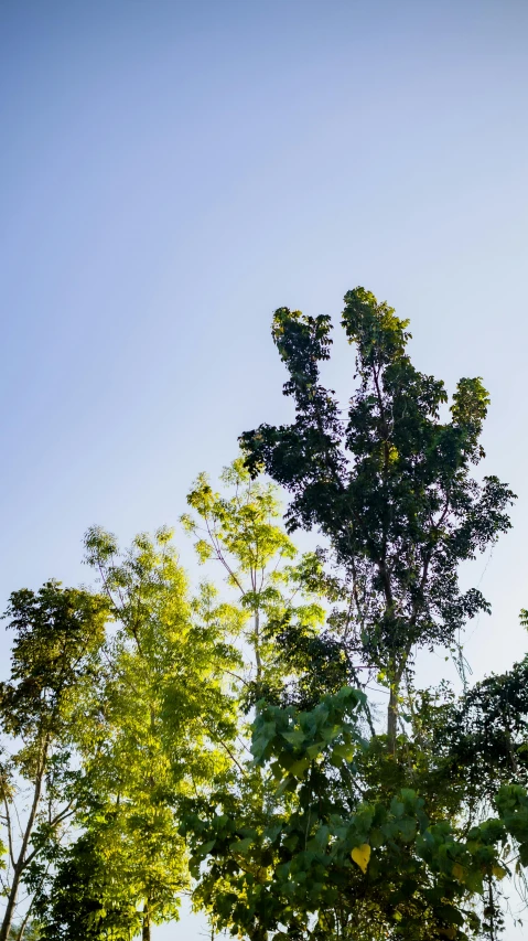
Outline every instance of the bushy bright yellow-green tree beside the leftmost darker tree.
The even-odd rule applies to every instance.
[[[41,894],[47,941],[137,931],[148,941],[152,923],[177,917],[188,883],[179,801],[230,762],[225,672],[238,657],[213,594],[188,597],[171,535],[140,535],[123,553],[99,528],[86,536],[116,627],[78,737],[83,832]]]

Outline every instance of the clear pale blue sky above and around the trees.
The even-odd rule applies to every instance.
[[[86,581],[91,524],[176,523],[291,416],[272,311],[337,325],[363,285],[420,370],[491,392],[485,471],[519,499],[464,573],[493,605],[466,655],[525,654],[527,44],[517,0],[0,0],[2,610]],[[336,336],[345,400],[353,373]]]

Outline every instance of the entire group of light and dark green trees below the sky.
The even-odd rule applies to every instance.
[[[243,435],[181,520],[216,585],[191,588],[169,530],[121,549],[93,527],[94,588],[11,595],[0,941],[148,941],[184,897],[213,937],[500,937],[528,865],[528,659],[467,685],[488,605],[457,576],[510,525],[509,488],[472,471],[488,396],[463,378],[450,404],[363,288],[342,325],[346,411],[330,318],[274,314],[292,423]],[[460,693],[420,687],[438,649]]]

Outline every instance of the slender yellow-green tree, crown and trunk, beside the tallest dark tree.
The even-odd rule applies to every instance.
[[[301,556],[284,532],[276,486],[251,480],[240,458],[224,470],[220,482],[218,492],[205,474],[198,477],[187,495],[194,512],[182,523],[196,537],[201,563],[222,566],[234,596],[231,621],[238,623],[243,659],[234,676],[239,735],[230,773],[213,780],[211,791],[188,806],[191,814],[200,806],[202,814],[214,816],[218,805],[233,809],[230,795],[236,792],[248,825],[259,821],[263,827],[274,787],[247,762],[250,729],[245,716],[261,697],[272,702],[291,697],[299,667],[305,666],[324,622],[322,567],[314,553]],[[295,656],[283,655],[284,630],[295,634]],[[190,832],[187,823],[182,832]],[[195,905],[205,908],[216,924],[222,922],[218,905],[227,886],[225,876],[222,867],[212,867],[194,894]]]

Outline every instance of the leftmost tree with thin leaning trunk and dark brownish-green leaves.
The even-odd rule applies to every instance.
[[[30,866],[61,838],[74,813],[75,729],[83,721],[107,614],[106,599],[63,589],[55,581],[37,592],[21,589],[10,596],[6,617],[15,638],[11,676],[0,685],[0,788],[8,855],[0,941],[10,937]]]

